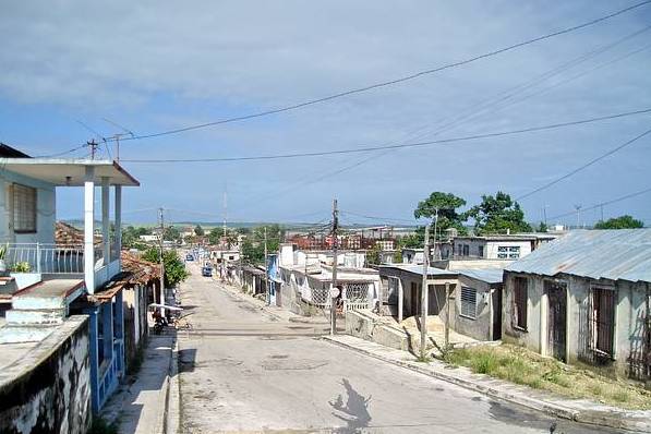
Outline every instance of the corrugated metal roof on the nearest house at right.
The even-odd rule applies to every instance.
[[[651,282],[651,229],[574,230],[505,269]]]

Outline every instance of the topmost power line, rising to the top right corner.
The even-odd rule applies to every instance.
[[[399,83],[403,83],[403,82],[408,82],[408,81],[412,81],[425,75],[430,75],[430,74],[434,74],[436,72],[441,72],[444,70],[448,70],[448,69],[453,69],[453,68],[458,68],[458,67],[462,67],[469,63],[473,63],[477,62],[479,60],[482,59],[486,59],[490,57],[494,57],[497,55],[502,55],[504,52],[507,51],[511,51],[515,50],[517,48],[521,48],[541,40],[545,40],[545,39],[551,39],[553,37],[556,36],[560,36],[560,35],[565,35],[571,32],[576,32],[586,27],[590,27],[593,26],[595,24],[599,24],[601,22],[607,21],[610,19],[613,19],[615,16],[622,15],[624,13],[627,13],[629,11],[632,11],[635,9],[641,8],[646,4],[651,3],[651,0],[647,0],[647,1],[642,1],[640,3],[636,3],[632,4],[630,7],[620,9],[618,11],[615,11],[613,13],[610,13],[607,15],[603,15],[601,17],[584,22],[582,24],[578,24],[571,27],[566,27],[562,31],[557,31],[557,32],[552,32],[542,36],[538,36],[531,39],[527,39],[523,40],[521,43],[517,43],[517,44],[513,44],[503,48],[498,48],[492,51],[487,51],[484,52],[482,55],[479,56],[474,56],[465,60],[460,60],[457,62],[453,62],[453,63],[447,63],[441,67],[436,67],[436,68],[432,68],[429,70],[424,70],[424,71],[420,71],[420,72],[415,72],[409,75],[405,75],[398,79],[394,79],[394,80],[388,80],[385,82],[378,82],[378,83],[374,83],[367,86],[363,86],[363,87],[358,87],[358,88],[353,88],[353,89],[349,89],[349,91],[345,91],[345,92],[340,92],[340,93],[336,93],[329,96],[325,96],[322,98],[316,98],[316,99],[310,99],[310,100],[305,100],[303,103],[299,103],[299,104],[294,104],[294,105],[290,105],[290,106],[285,106],[285,107],[279,107],[276,109],[270,109],[270,110],[265,110],[265,111],[260,111],[256,113],[251,113],[251,114],[244,114],[244,116],[239,116],[239,117],[232,117],[232,118],[227,118],[227,119],[221,119],[218,121],[214,121],[214,122],[205,122],[205,123],[200,123],[200,124],[195,124],[195,125],[189,125],[189,126],[183,126],[183,128],[179,128],[179,129],[173,129],[173,130],[167,130],[167,131],[161,131],[158,133],[150,133],[150,134],[144,134],[144,135],[134,135],[132,137],[124,137],[123,142],[125,141],[130,141],[130,140],[143,140],[143,138],[153,138],[153,137],[159,137],[161,135],[169,135],[169,134],[178,134],[178,133],[182,133],[182,132],[186,132],[186,131],[192,131],[192,130],[198,130],[198,129],[204,129],[204,128],[208,128],[208,126],[215,126],[215,125],[220,125],[220,124],[225,124],[225,123],[232,123],[232,122],[239,122],[239,121],[245,121],[245,120],[250,120],[250,119],[255,119],[255,118],[261,118],[261,117],[265,117],[265,116],[269,116],[269,114],[278,114],[281,112],[286,112],[286,111],[291,111],[291,110],[297,110],[303,107],[308,107],[308,106],[313,106],[313,105],[317,105],[317,104],[322,104],[322,103],[327,103],[334,99],[338,99],[338,98],[342,98],[346,96],[350,96],[350,95],[354,95],[354,94],[361,94],[364,92],[369,92],[369,91],[373,91],[376,88],[381,88],[381,87],[387,87],[387,86],[393,86]],[[74,149],[76,150],[76,149]]]

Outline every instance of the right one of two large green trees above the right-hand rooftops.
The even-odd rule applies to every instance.
[[[482,203],[467,213],[474,219],[474,229],[482,233],[530,232],[531,226],[525,221],[525,212],[510,195],[497,192],[495,196],[483,195]]]

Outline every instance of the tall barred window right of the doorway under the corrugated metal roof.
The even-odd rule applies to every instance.
[[[592,349],[613,357],[615,336],[615,291],[592,288]]]

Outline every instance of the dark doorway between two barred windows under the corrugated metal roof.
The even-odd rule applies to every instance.
[[[547,352],[554,359],[567,362],[567,285],[545,281],[547,294]]]

